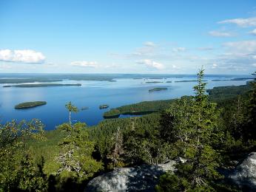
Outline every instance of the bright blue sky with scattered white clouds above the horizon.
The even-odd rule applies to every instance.
[[[250,74],[256,1],[0,1],[0,73]]]

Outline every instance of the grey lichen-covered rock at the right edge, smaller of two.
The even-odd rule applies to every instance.
[[[256,191],[256,152],[252,152],[229,176],[233,182],[249,191]]]

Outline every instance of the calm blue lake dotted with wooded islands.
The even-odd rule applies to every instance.
[[[4,76],[6,77],[6,75]],[[164,76],[163,76],[164,77]],[[246,77],[245,75],[206,75],[207,89],[214,86],[243,85],[246,80],[230,80],[232,78]],[[81,86],[56,87],[2,87],[0,84],[0,120],[5,123],[9,120],[40,119],[47,130],[68,121],[68,112],[65,103],[72,103],[79,109],[89,107],[87,110],[72,115],[73,122],[81,121],[93,126],[104,120],[103,114],[111,108],[138,103],[145,100],[166,100],[183,95],[193,95],[192,87],[196,82],[175,82],[178,80],[195,80],[195,75],[169,75],[163,79],[143,78],[115,78],[113,82],[98,80],[63,80],[54,83],[81,83]],[[220,81],[212,81],[212,80]],[[146,83],[161,81],[163,83]],[[166,83],[172,81],[172,83]],[[149,92],[149,89],[166,87],[167,90]],[[18,103],[44,100],[47,105],[31,109],[14,109]],[[109,109],[99,109],[102,104],[108,104]],[[126,117],[122,115],[121,117]]]

